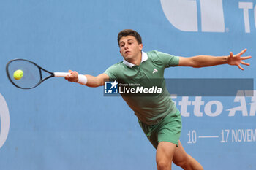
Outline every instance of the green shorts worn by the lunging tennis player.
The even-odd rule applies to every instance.
[[[178,146],[182,127],[181,114],[178,109],[176,113],[167,115],[157,125],[147,125],[140,121],[139,123],[148,140],[156,149],[159,142],[171,142]]]

